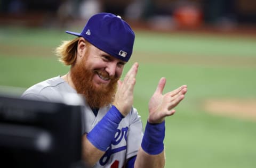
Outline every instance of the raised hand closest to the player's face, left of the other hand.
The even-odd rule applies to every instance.
[[[125,75],[123,82],[118,80],[118,87],[113,105],[116,106],[123,116],[126,116],[131,111],[133,105],[133,90],[138,66],[139,64],[135,62],[129,72]]]

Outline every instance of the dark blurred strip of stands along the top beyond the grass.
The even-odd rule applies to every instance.
[[[177,28],[255,26],[253,0],[1,0],[1,24],[65,27],[97,12],[121,15],[151,27]]]

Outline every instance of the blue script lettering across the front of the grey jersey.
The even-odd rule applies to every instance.
[[[113,137],[108,150],[100,158],[100,161],[99,161],[100,165],[102,165],[102,166],[105,165],[109,161],[112,154],[115,154],[122,150],[126,150],[127,145],[117,147],[115,149],[112,149],[112,145],[115,145],[115,146],[118,145],[122,141],[122,139],[124,139],[127,143],[127,132],[128,132],[128,127],[122,128],[121,130],[119,130],[119,129],[116,130],[115,136]]]

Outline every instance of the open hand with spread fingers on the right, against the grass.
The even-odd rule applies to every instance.
[[[166,116],[173,115],[176,107],[187,93],[187,85],[183,85],[163,95],[165,78],[159,80],[154,95],[149,100],[149,123],[162,123]]]

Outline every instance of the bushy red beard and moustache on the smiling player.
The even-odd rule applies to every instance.
[[[111,78],[108,85],[100,85],[95,87],[93,84],[93,76],[97,73],[90,70],[86,66],[87,56],[84,56],[80,63],[75,64],[70,69],[71,79],[75,85],[78,94],[82,94],[86,98],[87,104],[91,108],[100,108],[112,103],[117,89],[117,81],[119,78]],[[108,77],[106,71],[101,72],[103,77]]]

